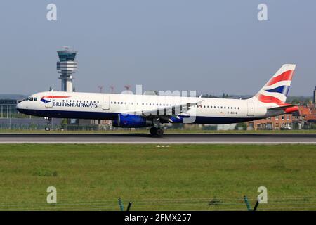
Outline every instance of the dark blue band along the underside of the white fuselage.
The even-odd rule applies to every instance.
[[[63,110],[29,110],[18,109],[20,113],[34,115],[38,117],[51,118],[72,118],[72,119],[91,119],[91,120],[116,120],[119,113],[107,112],[84,112],[84,111],[63,111]],[[232,124],[258,120],[260,118],[235,118],[235,117],[196,117],[195,124]]]

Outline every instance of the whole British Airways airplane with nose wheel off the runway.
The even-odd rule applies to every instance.
[[[101,94],[46,91],[17,105],[20,113],[51,118],[112,120],[114,127],[151,127],[152,136],[164,134],[163,124],[230,124],[293,113],[285,103],[296,65],[284,64],[258,93],[247,99]]]

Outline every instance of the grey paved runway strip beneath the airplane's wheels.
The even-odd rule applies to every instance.
[[[0,134],[0,143],[316,144],[316,134]]]

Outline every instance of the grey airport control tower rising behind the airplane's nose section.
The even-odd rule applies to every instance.
[[[63,50],[57,51],[59,62],[57,62],[57,70],[61,74],[59,79],[62,81],[61,91],[72,92],[72,74],[77,71],[77,62],[74,60],[77,51],[64,47]]]

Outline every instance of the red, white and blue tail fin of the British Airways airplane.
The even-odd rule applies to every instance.
[[[287,94],[291,86],[295,67],[295,64],[282,65],[254,97],[263,103],[284,105],[285,101],[287,101]]]

